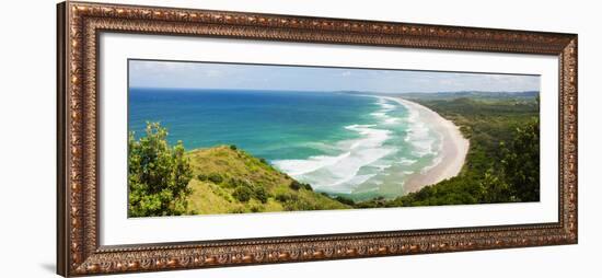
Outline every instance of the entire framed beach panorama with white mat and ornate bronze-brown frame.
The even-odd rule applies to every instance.
[[[62,276],[577,243],[577,35],[58,4]]]

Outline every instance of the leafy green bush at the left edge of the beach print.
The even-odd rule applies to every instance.
[[[186,212],[193,170],[178,141],[166,141],[167,130],[147,123],[146,136],[128,138],[128,202],[130,217],[180,216]]]

